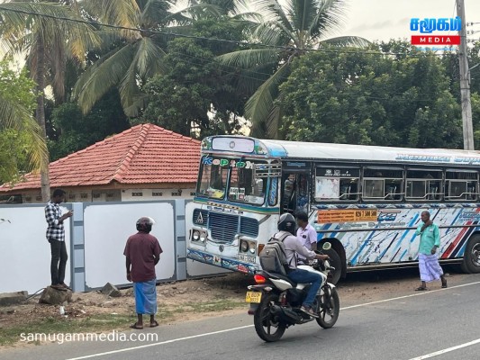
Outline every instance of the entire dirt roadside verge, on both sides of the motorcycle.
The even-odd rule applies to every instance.
[[[382,299],[416,293],[418,270],[349,275],[338,284],[342,307],[375,302]],[[479,275],[448,275],[448,285],[478,281]],[[160,325],[176,321],[199,320],[247,311],[244,302],[249,276],[230,274],[220,277],[158,284],[158,314]],[[440,284],[430,284],[439,289]],[[59,306],[38,303],[38,297],[21,305],[0,307],[0,331],[6,334],[2,346],[19,344],[22,332],[99,332],[128,329],[136,320],[135,301],[131,288],[123,289],[122,297],[110,298],[99,292],[74,293],[72,302],[60,315]],[[147,320],[147,319],[145,319]]]

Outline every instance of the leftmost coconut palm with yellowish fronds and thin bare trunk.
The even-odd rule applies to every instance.
[[[71,4],[70,4],[71,3]],[[72,21],[63,19],[72,19]],[[86,49],[95,46],[98,39],[94,27],[80,16],[75,0],[52,4],[42,0],[5,1],[0,4],[0,41],[8,53],[27,54],[32,78],[37,84],[35,118],[46,140],[45,88],[47,74],[51,74],[54,93],[65,94],[64,73],[67,58],[83,60]],[[41,171],[41,197],[50,198],[48,166]]]

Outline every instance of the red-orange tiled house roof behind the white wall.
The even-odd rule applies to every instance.
[[[142,124],[50,163],[50,187],[195,183],[200,141]],[[0,192],[38,189],[40,175],[0,186]]]

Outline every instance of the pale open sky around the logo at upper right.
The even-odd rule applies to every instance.
[[[467,35],[468,39],[480,39],[480,0],[464,0],[466,31],[478,31]],[[356,35],[367,40],[410,40],[410,19],[413,17],[455,17],[455,0],[348,0],[349,10],[345,26],[335,36]],[[437,32],[438,33],[438,32]]]

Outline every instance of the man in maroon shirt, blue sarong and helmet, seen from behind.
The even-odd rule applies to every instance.
[[[150,328],[158,326],[155,320],[157,312],[157,275],[155,266],[163,252],[158,239],[150,235],[155,221],[148,217],[137,220],[135,235],[127,240],[123,251],[126,257],[127,280],[133,282],[135,293],[135,310],[138,320],[131,325],[132,329],[143,329],[143,314],[150,315]]]

